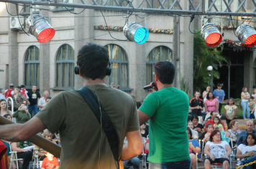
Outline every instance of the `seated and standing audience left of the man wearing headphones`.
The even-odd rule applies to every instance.
[[[43,92],[43,97],[41,97],[40,92],[37,91],[37,86],[33,86],[31,91],[27,91],[24,84],[18,87],[14,87],[14,84],[9,84],[8,90],[1,88],[0,92],[1,116],[6,117],[13,122],[22,124],[37,115],[37,112],[42,110],[52,98],[49,96],[47,90]],[[12,99],[9,99],[9,97]],[[58,140],[56,138],[58,137],[57,134],[58,133],[52,134],[47,129],[40,132],[42,137],[45,137],[53,143],[56,143],[56,140]],[[1,159],[0,168],[17,168],[16,163],[11,163],[10,161],[10,151],[16,151],[17,158],[23,159],[23,163],[19,167],[22,169],[27,169],[29,162],[35,160],[33,155],[38,155],[39,160],[45,160],[45,162],[42,162],[42,168],[58,168],[59,166],[57,158],[53,157],[52,154],[46,152],[42,148],[39,148],[37,145],[33,145],[28,140],[22,142],[1,140],[1,142],[4,143],[7,149],[4,158]],[[58,141],[57,143],[60,142]]]

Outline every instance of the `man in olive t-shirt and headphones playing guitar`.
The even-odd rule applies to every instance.
[[[119,140],[119,158],[129,160],[140,155],[143,145],[136,102],[127,93],[104,82],[104,77],[111,70],[108,50],[98,44],[86,44],[78,52],[77,64],[83,84],[96,94],[114,125]],[[69,90],[55,95],[28,122],[22,125],[1,125],[0,138],[27,140],[45,128],[52,133],[59,131],[60,169],[117,168],[101,125],[83,97]],[[127,137],[128,143],[123,146],[124,137]]]

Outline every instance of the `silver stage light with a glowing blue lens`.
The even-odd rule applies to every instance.
[[[124,36],[129,39],[129,41],[134,41],[137,44],[144,44],[147,41],[150,33],[148,30],[137,24],[136,22],[129,22],[124,26]]]

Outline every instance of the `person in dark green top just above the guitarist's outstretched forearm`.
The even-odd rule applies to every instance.
[[[27,102],[22,102],[19,109],[14,112],[13,117],[16,118],[17,123],[25,123],[31,119],[31,115],[27,109]]]

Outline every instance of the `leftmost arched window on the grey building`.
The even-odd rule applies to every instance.
[[[40,52],[38,47],[30,46],[24,58],[24,84],[26,87],[39,86]]]

